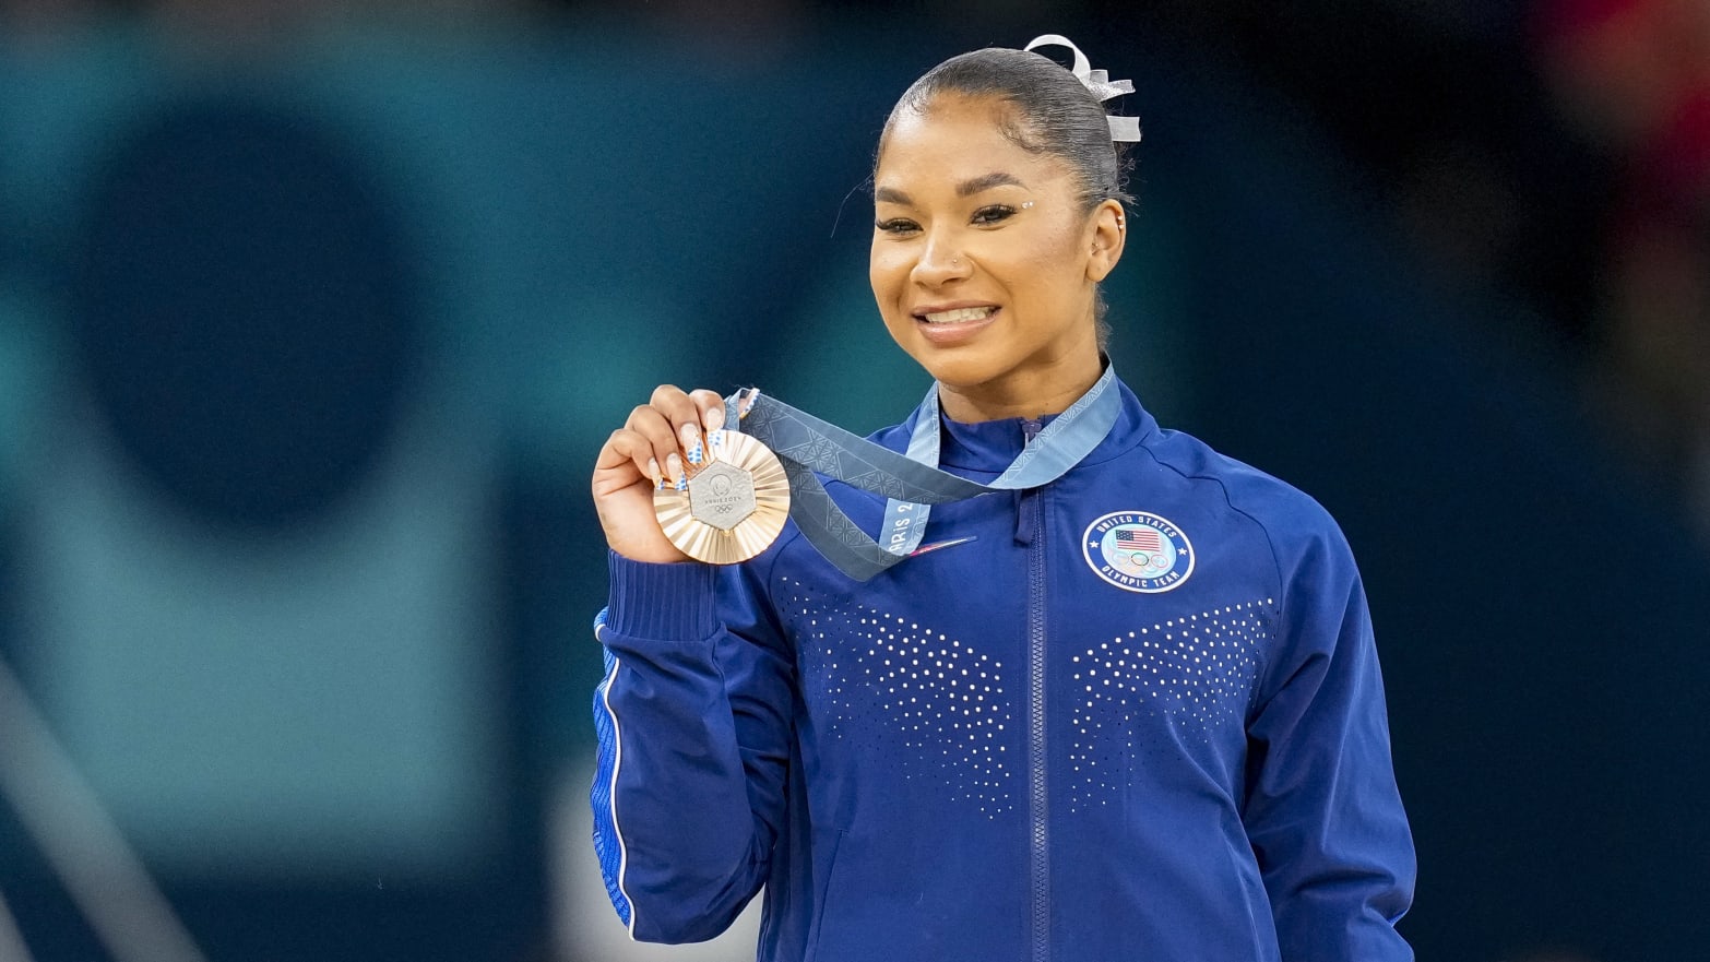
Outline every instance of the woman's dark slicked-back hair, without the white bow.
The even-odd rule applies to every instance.
[[[927,70],[891,108],[879,150],[891,125],[906,109],[920,113],[939,94],[994,97],[1011,109],[999,120],[1004,137],[1029,154],[1050,154],[1081,179],[1081,203],[1134,203],[1123,188],[1122,145],[1110,138],[1105,104],[1065,67],[1043,55],[988,46],[952,56]]]

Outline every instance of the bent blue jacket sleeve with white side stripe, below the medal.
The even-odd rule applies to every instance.
[[[605,678],[593,697],[593,846],[641,941],[713,938],[766,882],[793,661],[747,569],[610,557],[595,620]]]

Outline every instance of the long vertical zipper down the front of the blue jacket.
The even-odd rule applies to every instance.
[[[1043,424],[1026,420],[1021,432],[1033,444]],[[1031,880],[1031,962],[1050,960],[1052,863],[1050,800],[1045,774],[1045,499],[1040,489],[1021,492],[1016,537],[1028,545],[1028,877]]]

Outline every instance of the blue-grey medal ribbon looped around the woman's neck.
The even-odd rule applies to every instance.
[[[992,484],[978,484],[939,470],[939,386],[927,391],[908,439],[908,453],[867,441],[758,391],[725,402],[725,424],[778,455],[790,478],[790,518],[821,555],[843,574],[867,581],[908,557],[927,531],[934,504],[964,501],[994,490],[1043,487],[1081,463],[1110,434],[1122,410],[1115,369],[1103,376],[1062,415],[1045,425],[1033,443]],[[843,513],[816,475],[889,499],[884,513],[884,542],[867,537]]]

